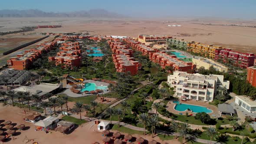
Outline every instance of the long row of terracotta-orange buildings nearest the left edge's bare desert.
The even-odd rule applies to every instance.
[[[42,53],[49,52],[57,42],[44,42],[36,45],[35,48],[25,50],[23,54],[18,54],[16,57],[11,57],[7,60],[8,68],[10,69],[30,69],[33,62],[40,58]]]

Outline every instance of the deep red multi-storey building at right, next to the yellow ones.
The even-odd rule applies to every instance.
[[[232,63],[240,68],[247,68],[254,65],[256,56],[254,53],[235,52],[231,49],[216,49],[215,60],[221,59],[224,63]]]

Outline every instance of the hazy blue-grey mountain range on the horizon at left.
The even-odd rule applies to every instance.
[[[0,17],[108,17],[122,18],[127,17],[118,13],[109,12],[103,9],[81,10],[70,13],[53,13],[42,10],[0,10]]]

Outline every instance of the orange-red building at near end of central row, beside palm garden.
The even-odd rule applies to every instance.
[[[116,72],[131,72],[131,75],[137,75],[141,69],[141,64],[135,61],[135,58],[120,54],[112,54]]]

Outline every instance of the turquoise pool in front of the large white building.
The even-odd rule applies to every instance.
[[[207,109],[206,107],[198,106],[198,105],[188,105],[188,104],[180,104],[179,101],[173,101],[177,105],[175,105],[174,109],[177,111],[186,111],[188,108],[193,112],[206,112],[206,113],[212,113],[213,111],[210,109]]]

